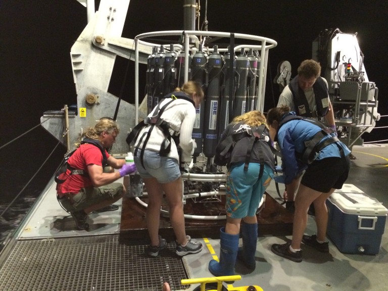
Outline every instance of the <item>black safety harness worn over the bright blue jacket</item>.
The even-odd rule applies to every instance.
[[[308,118],[308,117],[288,115],[280,121],[279,129],[283,124],[287,123],[290,120],[308,121],[308,122],[315,124],[321,128],[321,130],[318,131],[313,136],[312,139],[305,141],[305,149],[303,150],[303,152],[300,156],[301,161],[305,164],[308,164],[308,165],[311,164],[323,148],[327,147],[329,144],[331,144],[333,142],[339,141],[336,136],[331,136],[330,138],[327,138],[323,142],[320,142],[322,140],[322,138],[326,137],[327,135],[329,135],[331,133],[334,133],[334,130],[329,128],[329,127],[326,127],[322,123],[320,123],[312,118]],[[342,148],[341,148],[341,150],[342,150]],[[342,150],[341,155],[343,155],[343,153],[344,153],[344,151]]]

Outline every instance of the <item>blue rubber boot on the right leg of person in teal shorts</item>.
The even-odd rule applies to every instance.
[[[237,260],[243,262],[248,269],[255,270],[257,223],[243,223],[241,225],[241,236],[243,236],[243,248],[238,248]]]

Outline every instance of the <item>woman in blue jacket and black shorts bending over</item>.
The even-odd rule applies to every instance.
[[[276,140],[277,135],[282,153],[282,178],[287,187],[287,200],[293,201],[295,195],[292,241],[283,245],[274,244],[271,250],[294,262],[302,261],[302,242],[320,252],[328,253],[328,215],[325,201],[335,189],[341,189],[348,178],[350,150],[330,128],[319,122],[297,117],[295,112],[289,111],[288,106],[269,110],[267,124],[271,139]],[[317,234],[309,236],[304,235],[304,231],[311,203],[315,207]]]

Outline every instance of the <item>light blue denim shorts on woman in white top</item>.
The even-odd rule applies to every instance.
[[[178,161],[170,157],[161,157],[158,152],[144,151],[143,165],[140,162],[140,153],[137,151],[133,160],[141,178],[156,178],[159,183],[165,184],[180,177]]]

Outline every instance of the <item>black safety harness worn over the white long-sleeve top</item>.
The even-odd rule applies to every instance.
[[[141,148],[141,153],[140,153],[140,162],[141,162],[141,165],[143,167],[144,167],[144,164],[143,164],[144,150],[146,149],[147,142],[150,139],[151,133],[155,127],[158,127],[163,132],[163,135],[164,135],[164,139],[163,139],[161,147],[160,147],[159,155],[162,157],[166,157],[168,155],[168,153],[170,153],[171,137],[172,137],[170,134],[170,130],[169,130],[170,123],[167,122],[166,120],[164,120],[163,118],[161,118],[161,116],[162,116],[164,110],[167,108],[167,106],[171,102],[173,102],[174,100],[183,99],[183,100],[190,102],[195,107],[195,103],[183,92],[179,92],[179,91],[173,92],[170,95],[165,96],[165,98],[170,98],[170,97],[171,97],[171,100],[168,101],[165,105],[163,105],[162,108],[160,108],[160,104],[161,104],[161,102],[160,102],[154,111],[156,114],[154,116],[151,116],[151,117],[146,117],[143,121],[139,122],[132,129],[132,131],[128,134],[128,136],[126,138],[126,142],[130,146],[131,142],[135,142],[137,140],[137,138],[139,137],[140,131],[143,127],[151,126],[151,128],[148,131],[143,132],[143,134],[140,136],[140,140],[138,142],[138,144],[141,144],[143,138],[145,137],[144,142],[143,142],[143,146]],[[177,133],[178,132],[175,131],[173,138],[177,137]],[[138,149],[139,149],[139,147],[136,147],[135,151],[133,152],[133,154],[135,156],[137,154]]]

